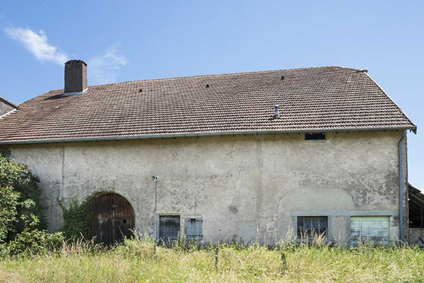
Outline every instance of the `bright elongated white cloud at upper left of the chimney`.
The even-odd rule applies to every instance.
[[[68,57],[58,51],[55,46],[52,46],[47,41],[47,36],[44,31],[35,33],[29,28],[6,28],[6,33],[16,41],[20,41],[38,60],[52,61],[63,65]]]

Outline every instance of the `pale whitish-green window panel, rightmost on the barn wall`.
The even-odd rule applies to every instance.
[[[369,240],[388,244],[388,216],[354,216],[351,217],[351,244],[359,240]]]

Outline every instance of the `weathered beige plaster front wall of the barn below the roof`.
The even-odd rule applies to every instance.
[[[15,146],[13,154],[41,177],[51,231],[62,219],[57,198],[68,203],[115,191],[133,205],[141,233],[154,233],[157,214],[180,213],[203,217],[205,240],[272,243],[295,228],[297,216],[327,215],[330,235],[343,241],[349,215],[388,215],[396,239],[401,134],[43,144]],[[159,176],[156,213],[153,175]]]

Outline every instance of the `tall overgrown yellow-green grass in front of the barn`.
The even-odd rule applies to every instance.
[[[223,243],[217,256],[212,245],[168,248],[148,237],[112,248],[80,240],[0,261],[0,282],[424,282],[424,251]]]

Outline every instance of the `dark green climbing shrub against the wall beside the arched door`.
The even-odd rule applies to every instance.
[[[60,203],[60,202],[59,202]],[[90,210],[90,201],[83,203],[70,203],[69,208],[65,208],[60,203],[63,210],[63,226],[61,231],[67,239],[78,239],[80,237],[88,237],[90,221],[92,213]]]

